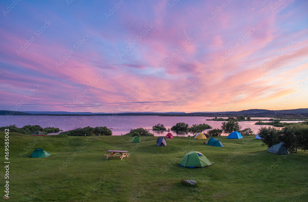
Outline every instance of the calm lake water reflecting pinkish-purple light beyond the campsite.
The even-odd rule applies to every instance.
[[[219,118],[219,117],[218,117]],[[227,118],[227,117],[223,117]],[[67,131],[79,127],[106,126],[110,128],[113,135],[129,133],[130,129],[146,128],[150,129],[155,136],[166,136],[168,131],[152,131],[152,126],[163,124],[167,130],[179,122],[184,122],[192,126],[193,124],[209,124],[213,128],[220,128],[222,121],[206,121],[213,117],[203,116],[0,116],[0,127],[15,124],[17,127],[24,125],[40,125],[43,128],[55,127]],[[270,119],[268,117],[252,119]],[[266,121],[264,121],[266,122]],[[285,121],[298,122],[298,121]],[[251,128],[254,133],[263,125],[254,125],[256,121],[241,121],[242,128]],[[210,130],[210,129],[208,129]],[[204,132],[208,131],[205,130]],[[187,132],[170,131],[173,136],[188,136]],[[227,134],[225,134],[227,135]]]

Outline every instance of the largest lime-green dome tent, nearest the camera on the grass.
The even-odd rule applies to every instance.
[[[212,163],[200,152],[191,151],[185,154],[185,156],[181,159],[179,166],[195,168],[212,166]]]

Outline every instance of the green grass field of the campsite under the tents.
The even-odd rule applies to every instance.
[[[4,133],[1,154],[4,160]],[[307,201],[308,152],[290,155],[267,152],[254,137],[217,137],[225,147],[203,144],[193,137],[167,139],[130,136],[35,137],[10,133],[10,198],[4,201]],[[47,158],[29,158],[41,148]],[[129,158],[111,158],[107,150],[127,150]],[[213,166],[184,168],[190,151],[204,154]],[[15,156],[15,157],[14,157]],[[4,196],[2,166],[1,193]],[[181,179],[197,181],[184,187]],[[7,180],[7,179],[6,179]],[[1,197],[1,200],[2,197]]]

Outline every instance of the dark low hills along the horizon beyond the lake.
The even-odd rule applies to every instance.
[[[112,113],[92,113],[92,112],[35,112],[35,111],[6,111],[0,110],[0,115],[53,115],[53,116],[108,116],[113,115]],[[284,118],[308,118],[308,108],[304,109],[287,109],[287,110],[267,110],[267,109],[249,109],[242,110],[239,112],[122,112],[117,113],[119,116],[217,116],[217,117],[228,117],[228,116],[250,116],[250,117],[284,117]]]

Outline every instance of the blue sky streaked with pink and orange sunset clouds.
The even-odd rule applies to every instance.
[[[308,108],[308,1],[0,2],[0,110]]]

